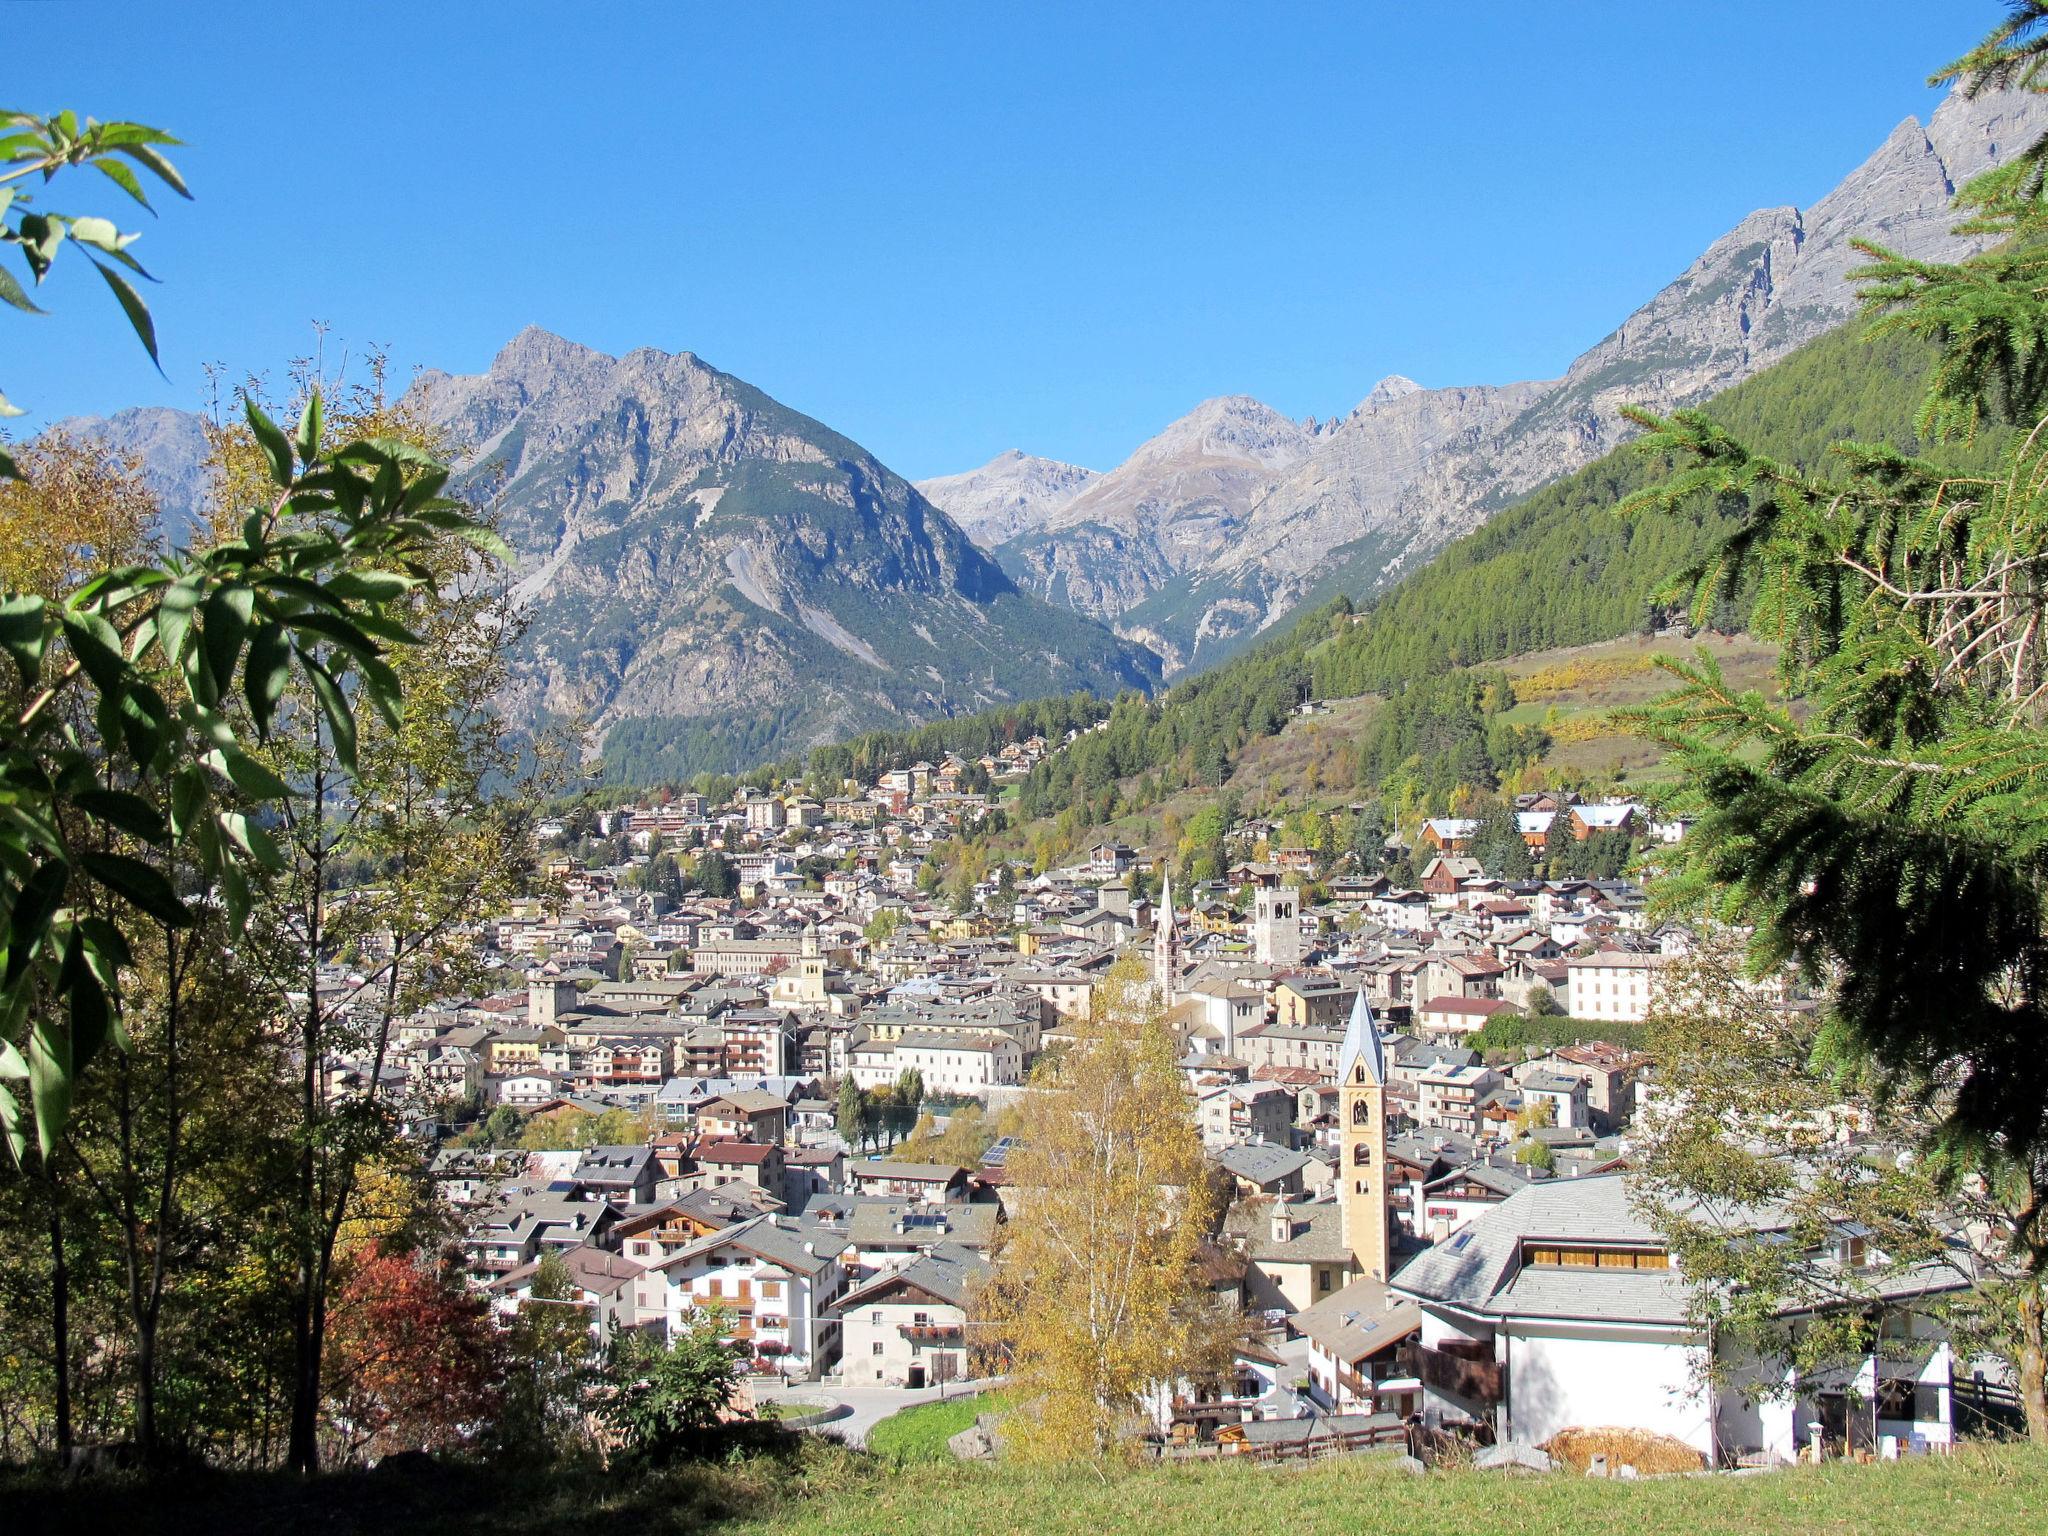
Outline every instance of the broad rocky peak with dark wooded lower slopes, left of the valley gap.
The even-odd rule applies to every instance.
[[[520,332],[410,401],[469,444],[530,604],[514,709],[578,717],[608,764],[731,768],[885,723],[1157,662],[1018,592],[858,444],[688,352]]]

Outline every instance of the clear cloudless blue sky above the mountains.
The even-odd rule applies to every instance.
[[[0,387],[37,418],[197,406],[203,365],[276,373],[315,319],[401,379],[539,324],[692,350],[913,477],[1110,467],[1208,395],[1329,416],[1386,373],[1559,373],[1925,119],[1995,18],[8,4],[10,94],[178,133],[199,201],[125,225],[168,377],[74,264],[51,317],[0,317]],[[117,213],[98,182],[51,205]]]

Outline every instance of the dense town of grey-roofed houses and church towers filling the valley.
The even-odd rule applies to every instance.
[[[985,805],[967,768],[772,811],[688,795],[621,811],[641,860],[727,850],[739,895],[670,899],[631,868],[561,858],[547,895],[487,936],[524,985],[406,1020],[379,1083],[395,1100],[629,1110],[645,1126],[580,1151],[434,1155],[500,1309],[530,1298],[553,1253],[598,1331],[676,1329],[715,1307],[756,1370],[791,1380],[911,1389],[989,1370],[973,1294],[1028,1202],[1010,1145],[973,1165],[862,1155],[836,1122],[840,1083],[918,1073],[934,1114],[1001,1106],[1139,952],[1227,1192],[1202,1280],[1257,1323],[1235,1372],[1161,1391],[1161,1430],[1419,1417],[1538,1442],[1622,1423],[1722,1462],[1790,1456],[1812,1423],[1948,1440],[1954,1360],[1913,1286],[1901,1327],[1923,1346],[1907,1364],[1872,1358],[1868,1380],[1753,1395],[1784,1366],[1702,1370],[1716,1343],[1628,1198],[1630,1126],[1655,1094],[1632,1032],[1475,1049],[1503,1010],[1649,1014],[1688,934],[1655,926],[1634,885],[1495,881],[1440,821],[1419,889],[1313,870],[1327,897],[1305,907],[1303,870],[1276,858],[1186,901],[1161,881],[1151,899],[1141,854],[1106,842],[1069,868],[989,879],[963,913],[918,895],[915,850]],[[1636,809],[1548,815],[1530,831],[1567,817],[1661,836]],[[823,889],[791,881],[813,854],[834,860]],[[883,911],[895,922],[877,926]],[[1843,1266],[1874,1257],[1843,1239]],[[1851,1413],[1858,1391],[1880,1411]]]

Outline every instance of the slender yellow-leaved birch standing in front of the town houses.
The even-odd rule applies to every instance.
[[[1008,1165],[1018,1210],[979,1307],[1020,1403],[1004,1444],[1030,1460],[1135,1444],[1141,1397],[1200,1370],[1214,1339],[1192,1268],[1214,1214],[1208,1163],[1137,961],[1108,973],[1075,1034],[1032,1073]]]

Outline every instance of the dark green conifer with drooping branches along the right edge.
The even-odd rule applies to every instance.
[[[1974,94],[2048,92],[2048,4],[2013,8],[1939,72]],[[1700,412],[1638,416],[1683,465],[1624,512],[1733,530],[1688,571],[1694,616],[1753,594],[1782,696],[1708,657],[1634,717],[1677,752],[1688,836],[1673,901],[1753,928],[1751,963],[1800,965],[1831,1008],[1815,1053],[1923,1118],[1923,1149],[2015,1190],[2007,1241],[2048,1274],[2048,139],[1958,195],[1962,262],[1866,244],[1876,330],[1939,348],[1923,426],[2013,434],[1991,473],[1845,442],[1798,469]],[[2032,1288],[2036,1333],[2040,1288]],[[2048,1423],[2036,1434],[2048,1436]]]

